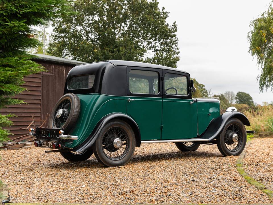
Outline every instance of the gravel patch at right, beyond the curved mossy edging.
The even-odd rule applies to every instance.
[[[273,138],[251,140],[243,167],[253,179],[273,191]]]

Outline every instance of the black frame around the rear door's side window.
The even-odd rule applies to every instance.
[[[154,71],[158,73],[158,86],[159,86],[159,93],[157,94],[148,94],[148,93],[131,93],[130,88],[129,88],[129,72],[131,70],[143,70],[143,71]],[[162,97],[162,69],[156,69],[156,68],[148,68],[148,67],[127,67],[127,96],[130,97]],[[149,84],[149,90],[150,90],[150,84]]]

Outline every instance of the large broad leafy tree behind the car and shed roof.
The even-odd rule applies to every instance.
[[[73,16],[54,21],[49,52],[95,62],[131,60],[176,67],[177,24],[157,0],[76,0]]]

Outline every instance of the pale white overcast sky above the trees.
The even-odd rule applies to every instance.
[[[212,94],[249,93],[255,103],[273,101],[273,93],[260,93],[256,59],[248,54],[250,21],[267,10],[271,0],[158,0],[177,22],[180,58],[178,69],[205,85]],[[51,33],[52,27],[46,28]]]

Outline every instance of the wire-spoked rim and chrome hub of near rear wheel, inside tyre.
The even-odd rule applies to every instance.
[[[122,159],[129,148],[128,135],[121,127],[109,128],[102,138],[102,149],[111,160]]]

